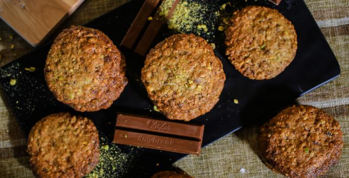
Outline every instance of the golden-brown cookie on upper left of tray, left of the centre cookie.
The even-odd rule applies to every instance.
[[[119,50],[104,33],[71,26],[48,52],[45,80],[59,101],[76,110],[108,108],[123,90],[120,60]]]

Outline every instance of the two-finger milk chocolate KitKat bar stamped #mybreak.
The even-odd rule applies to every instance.
[[[199,155],[204,125],[117,114],[114,143]]]

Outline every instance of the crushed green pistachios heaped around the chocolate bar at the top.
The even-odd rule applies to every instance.
[[[165,18],[175,0],[163,0],[156,17]],[[167,21],[168,29],[177,33],[190,34],[205,38],[216,47],[215,35],[223,34],[229,23],[229,17],[235,10],[230,1],[207,3],[204,0],[180,0],[172,16]]]

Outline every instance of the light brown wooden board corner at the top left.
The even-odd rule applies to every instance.
[[[40,44],[84,0],[0,0],[0,18],[32,46]]]

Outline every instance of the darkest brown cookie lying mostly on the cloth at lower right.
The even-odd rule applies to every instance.
[[[292,106],[261,127],[260,147],[271,169],[288,177],[317,177],[338,162],[343,133],[325,111]]]

